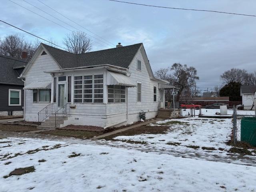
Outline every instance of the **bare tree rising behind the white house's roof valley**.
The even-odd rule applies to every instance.
[[[74,54],[86,53],[92,50],[92,42],[84,32],[73,31],[66,34],[64,44],[69,52]]]

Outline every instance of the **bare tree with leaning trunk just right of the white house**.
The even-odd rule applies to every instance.
[[[180,88],[176,96],[176,99],[179,101],[183,91],[194,86],[196,84],[195,80],[199,79],[199,77],[197,76],[196,68],[188,67],[180,63],[174,63],[171,70],[173,73],[170,76],[170,82]]]

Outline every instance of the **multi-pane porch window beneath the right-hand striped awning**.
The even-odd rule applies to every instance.
[[[125,103],[125,87],[119,85],[109,85],[108,103]]]

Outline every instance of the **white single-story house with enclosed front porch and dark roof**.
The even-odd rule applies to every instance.
[[[25,80],[24,119],[54,126],[121,126],[154,118],[164,108],[164,89],[154,78],[142,43],[73,54],[40,44],[20,75]]]

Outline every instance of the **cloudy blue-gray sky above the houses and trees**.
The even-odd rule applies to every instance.
[[[27,2],[92,36],[84,28],[108,40],[92,38],[93,50],[112,48],[118,42],[130,45],[143,42],[152,70],[166,68],[175,62],[198,70],[202,90],[221,84],[220,75],[230,68],[256,70],[256,17],[152,8],[108,0],[40,0],[74,20],[70,22],[38,0],[12,0],[54,22],[52,18]],[[207,9],[256,14],[255,0],[126,0],[141,4],[179,8]],[[1,0],[0,19],[63,46],[70,32],[12,2]],[[0,22],[0,38],[19,33],[27,40],[34,37]],[[100,41],[102,40],[102,41]],[[98,43],[97,43],[98,42]],[[114,45],[113,45],[114,44]],[[104,45],[104,46],[103,46]]]

